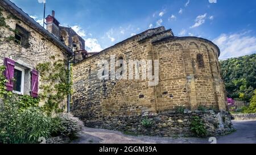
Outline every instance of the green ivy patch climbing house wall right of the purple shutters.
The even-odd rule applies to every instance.
[[[50,57],[55,59],[55,57]],[[39,97],[44,102],[43,110],[47,115],[63,112],[65,105],[61,105],[69,93],[72,83],[68,83],[68,69],[65,60],[38,64],[36,69],[40,74]]]

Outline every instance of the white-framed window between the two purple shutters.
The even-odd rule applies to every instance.
[[[25,71],[18,66],[14,67],[14,82],[13,82],[13,92],[23,95],[24,94],[24,74]]]

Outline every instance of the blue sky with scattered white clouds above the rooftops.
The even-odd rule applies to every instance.
[[[42,23],[43,0],[11,0]],[[256,52],[255,0],[46,0],[61,25],[98,52],[148,28],[171,28],[175,36],[204,37],[221,49],[220,58]]]

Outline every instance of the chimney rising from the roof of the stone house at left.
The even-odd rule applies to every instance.
[[[46,29],[58,38],[60,38],[59,24],[55,18],[55,11],[52,10],[52,15],[46,17]]]

